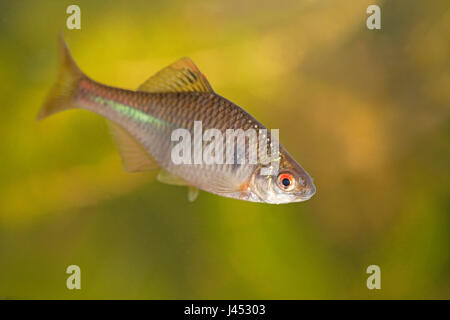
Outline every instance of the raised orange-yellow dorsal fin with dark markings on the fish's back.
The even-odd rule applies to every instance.
[[[137,89],[145,92],[214,92],[189,58],[182,58],[150,77]]]

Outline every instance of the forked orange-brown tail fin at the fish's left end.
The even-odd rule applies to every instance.
[[[37,119],[73,108],[72,97],[78,81],[84,76],[76,65],[62,35],[59,36],[60,69],[58,79],[51,89]]]

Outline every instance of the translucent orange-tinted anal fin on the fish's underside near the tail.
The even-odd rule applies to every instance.
[[[155,159],[120,125],[108,121],[111,135],[119,149],[122,163],[128,172],[148,171],[159,167]]]

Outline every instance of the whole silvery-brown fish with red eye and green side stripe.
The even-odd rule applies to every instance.
[[[199,190],[269,204],[305,201],[315,194],[313,179],[278,138],[243,108],[217,94],[191,59],[182,58],[151,76],[137,90],[128,90],[101,84],[83,73],[62,36],[59,51],[57,81],[37,119],[68,109],[89,110],[106,118],[126,171],[159,170],[160,182],[188,187],[189,201],[197,198]],[[210,131],[216,134],[215,138],[195,138],[198,124],[205,134],[216,130]],[[258,139],[244,137],[245,143],[238,144],[236,150],[240,148],[238,155],[247,159],[249,150],[256,148],[261,159],[237,161],[232,155],[230,159],[235,161],[225,163],[176,163],[174,148],[182,140],[173,139],[178,129],[194,135],[194,150],[196,143],[215,148],[219,142],[226,142],[228,130],[255,130],[260,134]],[[276,152],[261,152],[267,150],[263,149],[263,142]],[[180,154],[187,155],[190,148],[191,145]],[[225,153],[223,149],[213,150],[214,155]]]

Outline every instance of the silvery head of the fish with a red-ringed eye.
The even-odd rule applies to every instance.
[[[278,163],[277,171],[269,164],[259,167],[253,174],[250,189],[261,202],[300,202],[315,194],[313,179],[287,152],[281,153]]]

